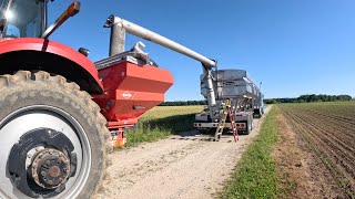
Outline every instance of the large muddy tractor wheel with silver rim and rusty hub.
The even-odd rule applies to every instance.
[[[90,198],[109,132],[91,96],[40,71],[0,75],[0,198]]]

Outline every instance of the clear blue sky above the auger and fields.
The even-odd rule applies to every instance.
[[[50,6],[54,21],[72,2]],[[104,0],[81,1],[81,12],[52,36],[90,59],[108,56],[110,30],[102,25],[116,14],[201,54],[219,69],[243,69],[263,82],[266,98],[301,94],[355,96],[354,0]],[[128,36],[130,49],[142,39]],[[143,41],[145,51],[174,76],[166,101],[202,100],[201,64]]]

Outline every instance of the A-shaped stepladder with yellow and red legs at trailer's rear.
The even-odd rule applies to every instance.
[[[226,121],[227,115],[230,115],[231,128],[233,132],[234,140],[235,142],[239,140],[237,129],[236,129],[236,125],[235,125],[235,117],[234,117],[234,113],[233,113],[234,108],[231,106],[231,103],[232,103],[232,100],[229,98],[222,105],[223,113],[222,113],[222,117],[220,119],[217,129],[215,130],[215,134],[214,134],[214,140],[220,140],[222,133],[223,133],[223,129],[225,127],[225,121]]]

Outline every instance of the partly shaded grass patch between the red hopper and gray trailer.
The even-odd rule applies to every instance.
[[[135,128],[126,132],[125,147],[191,130],[195,113],[202,109],[203,106],[156,106],[140,119]]]

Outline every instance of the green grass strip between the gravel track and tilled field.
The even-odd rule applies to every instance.
[[[272,157],[277,140],[276,109],[272,107],[261,133],[247,147],[221,198],[275,198],[276,165]]]

